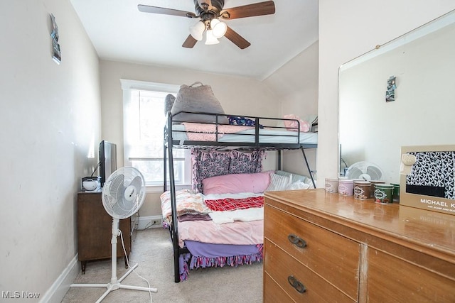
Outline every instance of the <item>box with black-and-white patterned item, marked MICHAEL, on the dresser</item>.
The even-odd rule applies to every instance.
[[[400,205],[455,215],[455,145],[402,146]]]

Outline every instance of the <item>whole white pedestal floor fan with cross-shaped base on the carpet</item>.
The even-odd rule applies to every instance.
[[[105,299],[107,294],[119,288],[127,290],[143,290],[157,292],[156,288],[122,285],[122,281],[135,268],[137,264],[117,279],[117,237],[121,233],[119,229],[120,219],[127,219],[135,214],[144,203],[145,199],[144,176],[134,167],[122,167],[112,173],[102,188],[102,205],[107,214],[112,216],[112,277],[106,284],[72,284],[70,287],[107,287],[107,290],[97,302]]]

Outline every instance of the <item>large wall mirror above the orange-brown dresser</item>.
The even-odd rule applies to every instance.
[[[401,146],[455,144],[455,11],[342,65],[338,107],[341,172],[399,183]]]

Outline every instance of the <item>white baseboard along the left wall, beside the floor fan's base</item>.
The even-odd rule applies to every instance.
[[[77,274],[79,273],[80,266],[77,262],[78,255],[76,254],[73,260],[70,261],[68,266],[58,276],[57,280],[53,282],[53,285],[45,292],[44,296],[41,297],[40,302],[42,303],[60,303],[66,292],[70,289],[70,284],[74,282]]]

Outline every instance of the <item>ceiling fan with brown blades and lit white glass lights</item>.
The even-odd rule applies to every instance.
[[[274,1],[264,1],[255,4],[223,9],[224,0],[193,0],[196,13],[179,11],[177,9],[166,9],[164,7],[148,6],[139,4],[137,8],[144,13],[161,13],[164,15],[181,16],[187,18],[199,18],[199,21],[190,26],[190,35],[183,42],[183,48],[193,48],[203,38],[205,32],[205,44],[219,43],[218,38],[223,35],[237,45],[240,49],[251,45],[241,35],[223,21],[253,16],[272,15],[275,13]],[[221,21],[220,21],[221,19]]]

